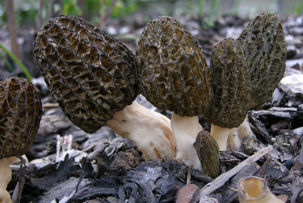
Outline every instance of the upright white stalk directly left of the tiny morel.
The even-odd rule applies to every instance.
[[[175,113],[171,116],[171,130],[177,143],[177,159],[187,166],[202,171],[200,160],[194,142],[198,132],[203,130],[199,124],[198,116],[181,117]]]

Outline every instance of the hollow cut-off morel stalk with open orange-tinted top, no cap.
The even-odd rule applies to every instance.
[[[270,192],[265,179],[257,176],[239,179],[237,189],[240,203],[284,203]]]

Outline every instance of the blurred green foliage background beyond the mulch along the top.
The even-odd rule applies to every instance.
[[[10,0],[12,1],[12,0]],[[0,26],[7,26],[5,0],[0,0]],[[145,22],[160,15],[178,18],[180,15],[198,15],[201,23],[212,22],[227,14],[247,17],[255,13],[303,14],[302,0],[18,0],[14,1],[17,27],[41,27],[59,14],[71,14],[101,25],[106,18],[118,18],[142,14]],[[101,23],[101,24],[100,24]]]

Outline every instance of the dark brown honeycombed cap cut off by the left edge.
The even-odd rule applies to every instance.
[[[42,116],[40,93],[27,79],[0,82],[0,159],[24,155],[37,135]]]

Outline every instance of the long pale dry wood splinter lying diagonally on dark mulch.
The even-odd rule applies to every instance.
[[[200,194],[196,197],[195,202],[198,202],[203,195],[208,195],[216,189],[220,188],[222,185],[224,185],[225,182],[227,182],[232,176],[239,172],[244,166],[254,163],[262,156],[270,152],[272,149],[273,146],[264,147],[260,151],[256,152],[254,155],[248,157],[245,161],[239,163],[237,166],[235,166],[228,172],[222,173],[214,181],[208,183],[203,188],[201,188]]]

